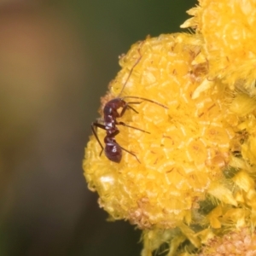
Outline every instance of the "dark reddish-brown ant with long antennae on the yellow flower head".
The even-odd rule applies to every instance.
[[[138,50],[138,52],[140,54],[139,50]],[[136,63],[133,65],[133,67],[131,67],[131,71],[130,71],[127,79],[125,80],[125,84],[123,85],[123,88],[120,91],[119,95],[124,90],[128,79],[130,79],[130,77],[131,77],[131,73],[132,73],[134,67],[137,66],[137,64],[141,60],[141,58],[142,58],[142,55],[140,54],[139,59],[136,61]],[[137,100],[140,100],[140,102],[125,102],[125,99],[128,99],[128,98],[137,99]],[[149,100],[147,98],[143,98],[140,96],[123,96],[123,97],[118,96],[116,98],[113,98],[112,100],[110,100],[109,102],[107,102],[105,104],[105,106],[103,108],[103,119],[104,119],[103,124],[99,123],[98,120],[96,120],[95,122],[93,122],[91,124],[91,130],[92,130],[93,134],[95,135],[97,142],[100,144],[102,151],[104,150],[104,153],[107,156],[108,160],[119,163],[120,160],[122,159],[122,150],[124,150],[125,152],[133,155],[137,159],[137,161],[140,163],[140,160],[138,160],[137,155],[132,153],[131,151],[123,148],[122,146],[120,146],[119,143],[116,142],[115,137],[119,134],[119,129],[118,129],[117,125],[123,125],[126,127],[130,127],[132,129],[150,134],[150,132],[148,132],[148,131],[144,131],[140,128],[137,128],[137,127],[134,127],[131,125],[126,125],[124,122],[120,122],[117,120],[125,114],[127,109],[131,109],[135,113],[138,113],[135,108],[131,107],[131,105],[132,104],[140,104],[143,101],[152,102],[154,104],[159,105],[162,108],[167,108],[166,106],[160,104],[159,102],[154,102],[152,100]],[[118,111],[119,108],[121,108],[120,111]],[[103,147],[99,137],[97,136],[97,133],[96,133],[97,127],[105,130],[107,133],[106,137],[104,138],[105,148]],[[100,155],[102,155],[102,151],[101,151]]]

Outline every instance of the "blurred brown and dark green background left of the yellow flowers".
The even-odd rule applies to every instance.
[[[131,44],[195,0],[0,0],[0,255],[139,255],[82,170],[100,96]]]

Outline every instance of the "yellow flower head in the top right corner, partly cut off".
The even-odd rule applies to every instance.
[[[188,11],[191,26],[202,35],[209,78],[222,79],[256,95],[256,2],[255,0],[200,0]]]

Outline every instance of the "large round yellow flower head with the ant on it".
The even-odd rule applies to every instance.
[[[122,150],[119,164],[99,155],[94,136],[84,160],[90,189],[114,219],[142,229],[170,229],[195,221],[207,195],[237,206],[223,172],[233,159],[232,148],[241,151],[240,119],[228,108],[238,103],[230,103],[233,97],[220,82],[207,79],[207,62],[192,64],[201,51],[198,43],[186,34],[147,38],[120,60],[122,70],[102,102],[124,97],[134,110],[127,108],[117,121],[143,131],[116,125],[116,142],[130,152]],[[98,128],[97,136],[104,145],[106,131]],[[217,219],[204,221],[219,227]]]

